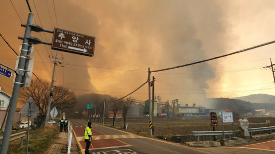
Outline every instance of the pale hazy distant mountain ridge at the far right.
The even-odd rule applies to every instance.
[[[275,104],[275,96],[268,95],[268,94],[253,94],[248,96],[242,96],[242,97],[234,97],[232,99],[239,99],[251,103],[269,103],[269,104]]]

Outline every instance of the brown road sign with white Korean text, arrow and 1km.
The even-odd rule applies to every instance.
[[[93,56],[95,38],[54,28],[51,48],[86,56]]]

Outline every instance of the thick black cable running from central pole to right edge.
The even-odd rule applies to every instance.
[[[189,66],[189,65],[194,65],[194,64],[198,64],[198,63],[202,63],[202,62],[207,62],[207,61],[210,61],[210,60],[214,60],[214,59],[226,57],[226,56],[229,56],[229,55],[233,55],[233,54],[236,54],[236,53],[248,51],[248,50],[258,48],[258,47],[261,47],[261,46],[265,46],[265,45],[268,45],[268,44],[272,44],[272,43],[275,43],[275,40],[264,43],[264,44],[256,45],[256,46],[253,46],[253,47],[249,47],[249,48],[246,48],[246,49],[242,49],[242,50],[239,50],[239,51],[235,51],[235,52],[232,52],[232,53],[229,53],[229,54],[226,54],[226,55],[222,55],[222,56],[218,56],[218,57],[214,57],[214,58],[210,58],[210,59],[206,59],[206,60],[202,60],[202,61],[197,61],[197,62],[185,64],[185,65],[180,65],[180,66],[176,66],[176,67],[171,67],[171,68],[166,68],[166,69],[161,69],[161,70],[154,70],[154,71],[150,71],[150,72],[160,72],[160,71],[172,70],[172,69],[177,69],[177,68],[181,68],[181,67],[185,67],[185,66]]]

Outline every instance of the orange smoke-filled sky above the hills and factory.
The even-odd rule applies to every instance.
[[[58,51],[54,84],[77,95],[122,97],[147,80],[148,68],[164,69],[228,54],[275,40],[274,0],[29,0],[34,24],[95,37],[94,56]],[[29,9],[25,0],[2,0],[0,33],[19,53]],[[32,32],[50,42],[52,34]],[[0,63],[16,55],[0,39]],[[275,44],[170,71],[152,73],[161,101],[201,105],[205,98],[274,95]],[[50,81],[56,50],[37,44],[34,73]],[[61,67],[64,66],[64,67]],[[11,95],[13,77],[0,77]],[[33,77],[34,78],[34,77]],[[146,84],[133,95],[148,99]]]

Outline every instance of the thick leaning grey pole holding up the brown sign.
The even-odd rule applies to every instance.
[[[12,129],[12,121],[13,121],[14,112],[17,105],[19,90],[20,90],[21,84],[23,84],[22,78],[25,74],[25,63],[26,63],[28,51],[31,48],[31,44],[29,44],[28,38],[31,36],[31,25],[33,24],[33,20],[34,20],[34,14],[29,13],[28,21],[25,29],[25,35],[23,39],[23,44],[22,44],[22,49],[20,53],[20,58],[18,62],[18,68],[17,68],[18,74],[16,75],[15,81],[14,81],[13,91],[10,99],[10,109],[7,116],[0,154],[7,153],[7,148],[8,148],[11,129]],[[23,73],[20,73],[20,72],[23,72]]]

